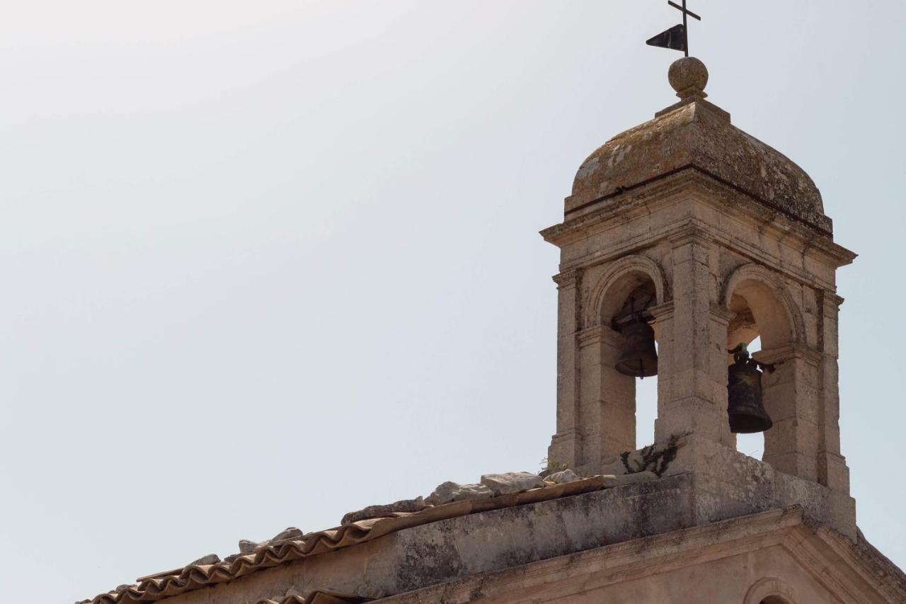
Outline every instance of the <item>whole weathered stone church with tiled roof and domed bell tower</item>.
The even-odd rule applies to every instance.
[[[855,255],[707,82],[674,63],[679,102],[594,151],[542,232],[561,250],[549,471],[445,482],[84,601],[906,602],[840,450],[835,271]],[[635,380],[654,373],[639,448]],[[752,431],[761,460],[736,450]]]

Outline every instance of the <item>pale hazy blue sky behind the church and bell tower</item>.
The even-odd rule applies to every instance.
[[[666,0],[3,4],[0,600],[540,469],[537,231],[591,151],[675,101],[679,54],[644,44]],[[860,253],[843,454],[865,535],[906,565],[906,3],[689,6],[709,100]]]

